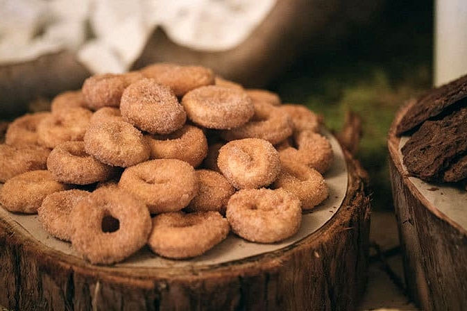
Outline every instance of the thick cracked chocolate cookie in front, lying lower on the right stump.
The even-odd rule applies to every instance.
[[[443,119],[425,121],[402,147],[407,171],[423,180],[441,180],[444,171],[467,152],[467,107]]]

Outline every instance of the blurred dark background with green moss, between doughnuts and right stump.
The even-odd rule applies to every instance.
[[[338,47],[303,56],[269,85],[282,101],[304,103],[333,131],[347,110],[362,117],[356,158],[370,176],[374,209],[393,208],[387,133],[398,108],[432,87],[433,4],[387,1],[371,24]]]

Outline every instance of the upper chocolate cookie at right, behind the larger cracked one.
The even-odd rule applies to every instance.
[[[396,128],[402,135],[467,97],[467,75],[427,92],[409,108]]]

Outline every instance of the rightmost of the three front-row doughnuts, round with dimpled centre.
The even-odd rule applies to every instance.
[[[297,197],[283,189],[244,189],[230,197],[226,217],[240,237],[274,243],[297,233],[302,208]]]

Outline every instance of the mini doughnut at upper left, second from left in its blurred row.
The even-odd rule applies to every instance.
[[[53,149],[62,142],[83,140],[91,116],[92,111],[85,108],[70,108],[58,115],[50,113],[37,124],[38,142]]]

